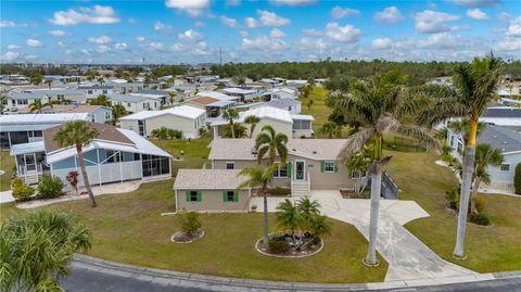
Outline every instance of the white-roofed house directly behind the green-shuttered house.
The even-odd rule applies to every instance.
[[[289,111],[266,105],[239,113],[239,118],[234,123],[244,124],[246,117],[252,115],[260,119],[253,136],[258,135],[264,125],[270,125],[276,131],[282,132],[289,138],[310,138],[314,135],[312,128],[313,116],[292,115]],[[211,124],[214,129],[214,138],[224,137],[227,125],[229,125],[229,122],[223,117],[215,119]]]

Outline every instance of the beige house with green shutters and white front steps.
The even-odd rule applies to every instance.
[[[284,165],[275,172],[271,187],[287,188],[292,196],[309,195],[313,190],[353,189],[339,154],[345,139],[291,139]],[[215,139],[208,160],[212,169],[180,169],[174,189],[180,210],[247,211],[252,190],[238,191],[243,181],[240,169],[257,164],[254,139]],[[267,165],[264,160],[262,164]]]

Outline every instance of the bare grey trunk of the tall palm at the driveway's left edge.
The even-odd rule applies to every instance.
[[[371,173],[371,211],[369,223],[369,247],[364,263],[368,266],[378,266],[377,259],[377,230],[380,208],[380,194],[382,188],[382,167],[380,162],[374,162]]]

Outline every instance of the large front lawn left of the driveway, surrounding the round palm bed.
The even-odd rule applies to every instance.
[[[149,182],[138,190],[98,198],[91,208],[86,200],[60,203],[58,208],[75,214],[93,232],[90,255],[120,263],[224,277],[304,282],[382,281],[386,263],[368,268],[361,264],[367,241],[355,227],[331,220],[332,236],[325,250],[301,259],[267,257],[253,245],[262,237],[262,214],[202,214],[206,234],[191,244],[169,242],[178,230],[174,211],[173,180]],[[0,205],[1,218],[21,213],[13,204]],[[270,227],[275,228],[275,216]]]

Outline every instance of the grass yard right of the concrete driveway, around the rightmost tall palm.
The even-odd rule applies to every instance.
[[[385,151],[393,155],[387,165],[402,192],[402,200],[414,200],[431,217],[417,219],[406,228],[443,258],[479,272],[521,269],[521,198],[486,194],[484,213],[494,227],[467,226],[466,261],[452,256],[457,218],[445,211],[445,190],[457,181],[450,170],[437,166],[432,153]]]

